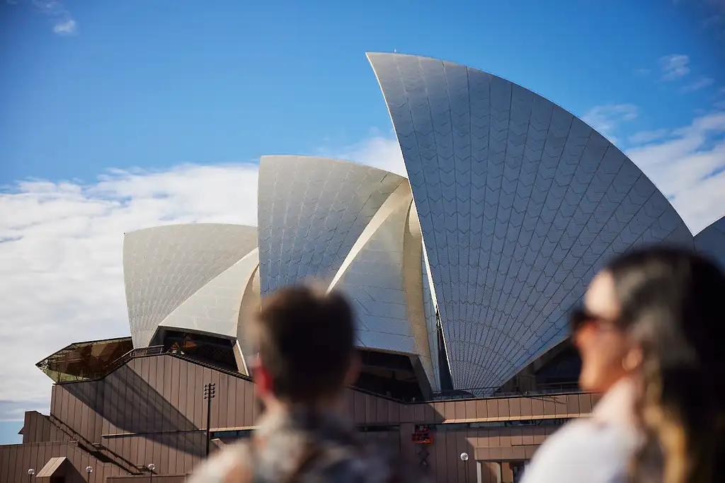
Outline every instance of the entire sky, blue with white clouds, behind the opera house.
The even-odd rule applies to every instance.
[[[399,169],[365,51],[541,93],[697,231],[725,214],[724,45],[723,0],[2,2],[0,443],[22,411],[47,411],[36,361],[128,332],[123,231],[253,224],[262,154]]]

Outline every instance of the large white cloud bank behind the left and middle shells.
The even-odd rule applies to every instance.
[[[402,166],[397,143],[379,136],[337,154]],[[0,421],[47,411],[51,381],[36,362],[78,340],[128,335],[123,233],[189,222],[256,224],[257,164],[114,169],[90,183],[0,190]]]

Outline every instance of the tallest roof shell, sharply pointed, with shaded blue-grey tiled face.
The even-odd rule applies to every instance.
[[[420,217],[456,389],[500,386],[566,337],[604,261],[692,235],[616,146],[526,88],[368,54]]]

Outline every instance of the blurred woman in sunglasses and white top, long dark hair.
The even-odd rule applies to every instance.
[[[592,417],[539,448],[523,482],[711,483],[725,461],[725,274],[690,251],[631,251],[571,314]]]

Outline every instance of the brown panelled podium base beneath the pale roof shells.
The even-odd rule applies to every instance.
[[[162,347],[112,358],[128,343],[72,345],[39,364],[58,381],[51,410],[26,413],[22,444],[0,446],[0,482],[183,482],[205,455],[208,383],[212,451],[247,437],[258,416],[249,377]],[[589,394],[532,392],[413,403],[352,388],[347,406],[366,439],[420,464],[433,482],[513,482],[547,435],[594,403]],[[416,433],[429,444],[414,442]]]

